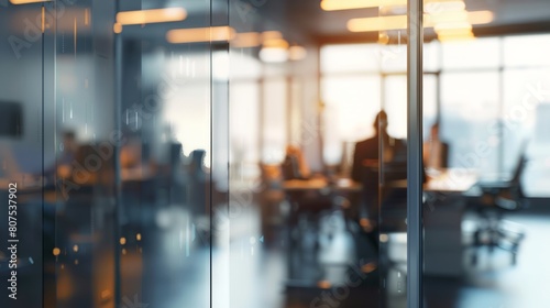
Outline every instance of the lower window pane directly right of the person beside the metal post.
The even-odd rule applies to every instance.
[[[459,86],[460,85],[460,86]],[[449,142],[449,167],[498,170],[494,145],[498,134],[491,124],[497,119],[496,73],[449,73],[441,75],[441,138]]]

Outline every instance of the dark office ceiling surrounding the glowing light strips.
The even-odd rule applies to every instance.
[[[491,10],[495,14],[492,23],[474,26],[476,36],[550,32],[550,0],[464,1],[469,11]],[[140,1],[121,0],[121,4],[129,6],[123,10],[140,9]],[[377,9],[326,12],[320,9],[320,0],[141,0],[142,9],[175,6],[188,11],[185,21],[128,26],[124,33],[164,41],[170,29],[229,23],[238,32],[279,30],[290,43],[298,44],[375,42],[378,37],[377,32],[351,33],[346,29],[350,19],[377,16]],[[425,37],[433,38],[433,31],[425,31]]]

